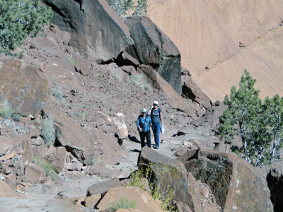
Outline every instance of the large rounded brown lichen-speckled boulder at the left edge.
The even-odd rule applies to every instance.
[[[47,78],[33,66],[16,59],[0,61],[0,93],[19,113],[34,117],[50,96]]]

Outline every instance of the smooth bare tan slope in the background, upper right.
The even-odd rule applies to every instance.
[[[283,4],[264,1],[149,0],[150,18],[173,40],[182,65],[212,100],[223,100],[247,69],[260,97],[283,95]]]

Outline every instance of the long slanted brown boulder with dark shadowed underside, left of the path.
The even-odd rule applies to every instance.
[[[42,115],[54,117],[56,141],[60,146],[64,146],[81,163],[88,165],[92,162],[95,151],[93,138],[57,107],[57,100],[53,96],[42,109]]]

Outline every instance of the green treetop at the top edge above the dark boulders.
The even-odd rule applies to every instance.
[[[147,0],[138,0],[137,6],[134,8],[132,0],[106,0],[115,12],[124,19],[132,16],[146,16]],[[133,11],[131,13],[131,11]]]

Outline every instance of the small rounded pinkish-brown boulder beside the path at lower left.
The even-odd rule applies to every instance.
[[[25,167],[25,177],[31,183],[45,182],[47,179],[45,169],[34,163],[30,163]]]

